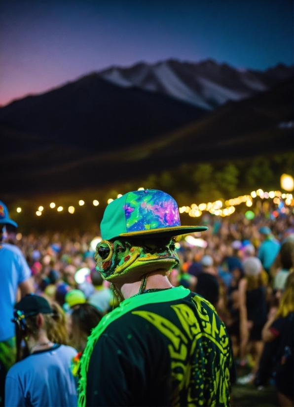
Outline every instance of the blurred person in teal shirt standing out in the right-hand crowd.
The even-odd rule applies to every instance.
[[[280,251],[280,243],[272,235],[268,226],[260,228],[259,233],[262,243],[259,246],[258,259],[261,261],[263,269],[269,273],[269,269]]]

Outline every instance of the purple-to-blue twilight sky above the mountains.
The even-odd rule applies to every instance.
[[[111,65],[293,64],[292,0],[0,0],[0,105]]]

